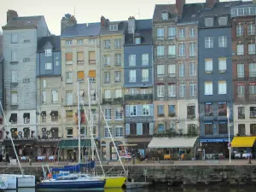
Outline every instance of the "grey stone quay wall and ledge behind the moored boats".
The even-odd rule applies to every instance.
[[[73,165],[74,163],[68,163]],[[117,162],[103,162],[105,172],[121,172],[122,167]],[[49,163],[49,167],[61,165]],[[42,177],[42,163],[22,163],[25,173]],[[129,171],[128,182],[144,182],[145,175],[149,183],[167,183],[168,185],[195,185],[195,184],[256,184],[256,160],[248,164],[247,160],[184,160],[184,161],[160,161],[140,162],[135,165],[125,164]],[[19,166],[6,166],[0,164],[1,173],[20,173]],[[95,172],[101,174],[99,165]]]

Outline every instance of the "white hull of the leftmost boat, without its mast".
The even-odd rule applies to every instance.
[[[0,174],[0,189],[34,188],[36,177],[33,175]]]

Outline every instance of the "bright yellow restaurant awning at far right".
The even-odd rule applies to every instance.
[[[231,142],[232,148],[251,148],[256,137],[234,137]]]

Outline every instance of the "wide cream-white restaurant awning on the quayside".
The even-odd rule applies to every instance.
[[[194,148],[198,137],[153,137],[148,148]]]

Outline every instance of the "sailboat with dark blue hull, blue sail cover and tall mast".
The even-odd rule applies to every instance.
[[[64,166],[63,168],[53,168],[52,171],[80,172],[81,164],[81,137],[80,137],[80,103],[79,103],[79,81],[78,81],[78,116],[79,116],[79,165]],[[56,178],[47,178],[38,183],[37,189],[104,189],[106,180],[102,178],[90,177],[88,174],[68,174]]]

